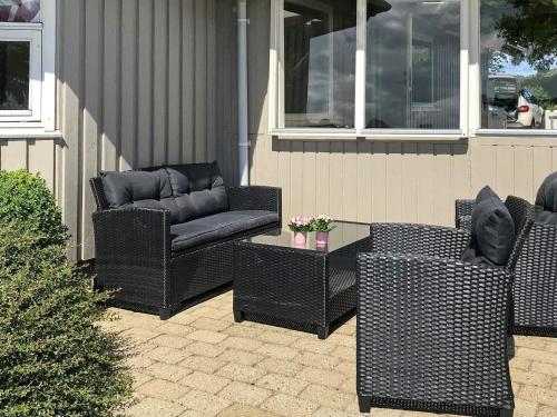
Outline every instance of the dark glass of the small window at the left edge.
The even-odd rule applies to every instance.
[[[29,48],[0,41],[0,110],[29,109]]]

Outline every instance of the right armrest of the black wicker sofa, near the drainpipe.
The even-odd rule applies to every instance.
[[[267,210],[282,216],[282,189],[276,187],[248,186],[227,189],[232,211]]]

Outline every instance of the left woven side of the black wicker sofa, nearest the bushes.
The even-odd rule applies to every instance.
[[[97,287],[120,289],[121,298],[162,307],[169,278],[170,212],[105,210],[92,215]]]

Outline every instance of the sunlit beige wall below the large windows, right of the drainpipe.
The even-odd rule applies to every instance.
[[[251,181],[283,188],[284,219],[326,212],[356,221],[455,225],[455,199],[485,185],[532,201],[557,171],[557,138],[287,141],[268,132],[270,2],[248,8]]]

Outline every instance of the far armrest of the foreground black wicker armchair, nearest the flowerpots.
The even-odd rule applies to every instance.
[[[458,259],[470,242],[470,234],[441,226],[372,224],[370,240],[372,252]]]

